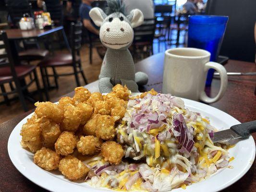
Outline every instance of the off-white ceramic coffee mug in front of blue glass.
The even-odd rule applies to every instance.
[[[209,62],[210,53],[198,48],[172,48],[165,51],[163,93],[171,93],[206,103],[218,101],[225,93],[228,76],[225,68],[216,62]],[[220,89],[217,96],[206,95],[205,83],[209,69],[215,69],[220,75]]]

